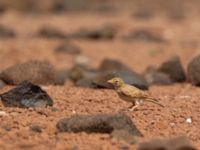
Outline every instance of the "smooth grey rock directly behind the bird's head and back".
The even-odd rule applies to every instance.
[[[112,88],[112,86],[107,83],[108,80],[120,77],[122,78],[125,83],[134,85],[139,89],[147,90],[148,84],[146,80],[136,72],[129,72],[129,71],[107,71],[103,72],[96,77],[93,77],[92,82],[93,84],[97,85],[100,88]]]

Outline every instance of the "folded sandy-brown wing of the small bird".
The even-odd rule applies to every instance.
[[[123,88],[121,88],[121,94],[132,97],[132,98],[147,98],[149,95],[146,92],[141,91],[140,89],[137,89],[130,85],[125,85]]]

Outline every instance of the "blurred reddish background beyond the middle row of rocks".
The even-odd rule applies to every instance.
[[[69,68],[75,56],[55,53],[69,40],[90,58],[94,67],[109,57],[142,72],[148,63],[157,65],[172,55],[179,55],[185,67],[198,53],[199,3],[0,0],[0,59],[4,62],[0,67],[45,59],[58,68]]]

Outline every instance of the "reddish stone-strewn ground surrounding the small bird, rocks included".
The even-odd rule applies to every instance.
[[[0,149],[145,149],[140,143],[180,136],[199,149],[196,3],[172,11],[170,3],[125,9],[116,2],[109,5],[115,9],[96,11],[94,5],[84,13],[49,5],[30,13],[3,5]],[[113,76],[148,89],[165,108],[145,103],[124,112],[129,104],[105,82]],[[189,146],[184,139],[174,141]],[[181,149],[169,147],[171,141],[154,142]]]

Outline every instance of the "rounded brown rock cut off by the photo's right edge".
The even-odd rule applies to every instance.
[[[187,67],[187,74],[192,84],[200,86],[200,55],[190,61]]]

